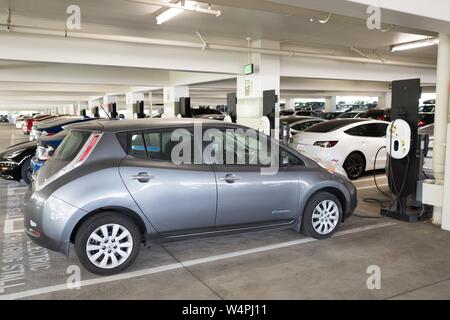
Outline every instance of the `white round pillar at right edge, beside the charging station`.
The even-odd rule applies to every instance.
[[[446,148],[450,148],[448,144],[446,145],[450,88],[450,36],[448,34],[439,34],[436,80],[433,171],[434,178],[436,180],[435,183],[438,185],[443,185]],[[450,170],[450,168],[447,168],[447,170]],[[444,195],[450,194],[450,186],[448,183],[446,187],[448,190],[443,190]],[[444,199],[445,198],[446,197],[444,197]],[[443,215],[445,215],[445,217]],[[434,207],[433,223],[442,224],[443,229],[445,228],[450,231],[450,203],[448,201],[444,201],[444,208],[437,206]]]

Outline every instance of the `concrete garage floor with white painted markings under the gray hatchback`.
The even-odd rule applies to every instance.
[[[26,140],[0,125],[0,149]],[[377,173],[384,190],[386,178]],[[97,277],[35,246],[21,231],[22,183],[0,181],[0,299],[449,299],[450,233],[378,216],[371,175],[356,181],[359,206],[335,237],[259,231],[142,248],[126,273]],[[381,288],[370,290],[370,266]],[[75,270],[75,273],[74,273]],[[80,289],[70,289],[80,270]]]

